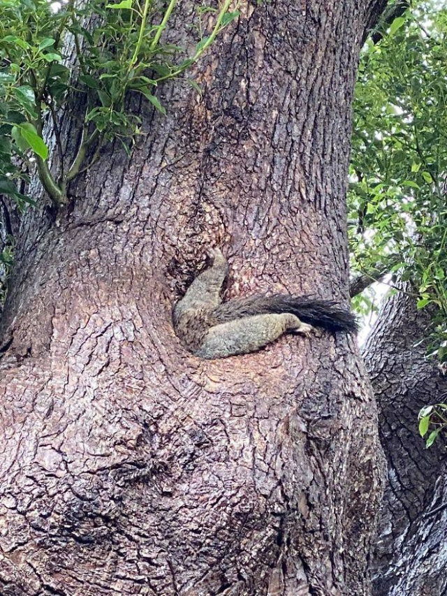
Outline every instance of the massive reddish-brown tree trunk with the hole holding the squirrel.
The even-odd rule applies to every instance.
[[[201,361],[171,307],[216,245],[229,296],[348,304],[351,98],[380,4],[244,6],[203,96],[160,89],[168,117],[140,106],[131,159],[110,147],[54,224],[27,214],[2,324],[2,594],[369,594],[381,455],[356,342]]]

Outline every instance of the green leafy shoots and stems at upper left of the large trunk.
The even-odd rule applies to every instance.
[[[85,169],[89,147],[96,145],[97,155],[103,143],[119,138],[127,148],[138,133],[140,120],[126,108],[129,92],[141,94],[164,114],[156,87],[182,75],[238,16],[237,10],[230,12],[230,3],[200,6],[200,38],[192,54],[179,59],[182,48],[161,42],[176,0],[0,0],[0,193],[20,205],[29,201],[15,181],[34,159],[53,203],[66,203],[66,185]],[[207,15],[212,27],[204,34]],[[73,96],[85,105],[85,117],[78,154],[66,164],[57,112]],[[47,165],[54,160],[42,138],[47,117],[57,140],[57,175]]]

